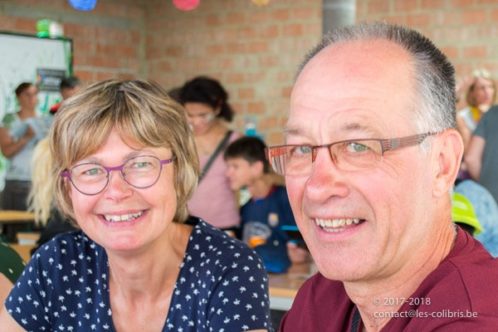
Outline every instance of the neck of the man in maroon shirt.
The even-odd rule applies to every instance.
[[[451,224],[435,238],[435,246],[420,248],[425,254],[418,255],[390,277],[344,283],[346,293],[358,307],[365,331],[379,331],[389,322],[389,313],[397,312],[448,256],[455,239],[456,229]]]

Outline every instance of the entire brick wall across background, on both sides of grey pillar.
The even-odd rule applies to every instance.
[[[169,0],[98,0],[89,13],[66,0],[2,0],[0,30],[35,32],[38,19],[64,26],[74,40],[75,74],[150,78],[165,88],[199,74],[222,81],[243,130],[248,116],[270,143],[281,141],[296,68],[321,36],[320,0],[201,0],[181,12]],[[420,30],[450,57],[457,76],[485,67],[498,77],[498,1],[358,0],[357,20]]]

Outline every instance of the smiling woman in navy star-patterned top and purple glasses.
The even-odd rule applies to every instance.
[[[81,231],[35,253],[0,326],[270,329],[259,258],[188,216],[195,143],[185,111],[159,86],[97,83],[64,103],[49,140],[58,207]]]

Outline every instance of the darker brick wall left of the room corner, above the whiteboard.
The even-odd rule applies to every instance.
[[[74,71],[85,82],[145,77],[144,13],[133,0],[100,0],[91,12],[76,11],[66,0],[4,0],[0,30],[35,34],[39,19],[55,20],[73,39]]]

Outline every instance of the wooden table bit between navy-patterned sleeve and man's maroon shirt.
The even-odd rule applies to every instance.
[[[289,310],[299,287],[310,277],[311,269],[310,263],[295,264],[287,273],[270,274],[270,308]]]

